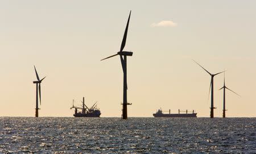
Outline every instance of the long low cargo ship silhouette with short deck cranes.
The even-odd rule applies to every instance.
[[[180,109],[179,109],[178,114],[171,114],[171,110],[169,110],[169,114],[164,114],[162,109],[159,109],[158,111],[156,111],[155,114],[153,114],[153,116],[155,118],[160,118],[160,117],[166,117],[166,118],[192,118],[192,117],[195,117],[196,118],[197,117],[196,114],[197,113],[195,113],[194,110],[192,112],[189,112],[188,110],[181,111]]]

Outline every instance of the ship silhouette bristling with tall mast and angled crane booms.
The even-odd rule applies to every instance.
[[[82,98],[82,107],[76,107],[74,106],[74,100],[73,100],[73,106],[70,109],[75,108],[75,114],[73,116],[75,117],[100,117],[101,111],[97,108],[97,102],[94,103],[92,107],[87,107],[84,103],[84,97]],[[81,111],[78,111],[81,110]]]

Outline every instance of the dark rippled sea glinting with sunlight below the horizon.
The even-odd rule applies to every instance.
[[[256,153],[256,118],[0,118],[0,153]]]

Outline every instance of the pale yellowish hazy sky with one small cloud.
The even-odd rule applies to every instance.
[[[195,110],[209,117],[210,73],[227,70],[227,117],[256,116],[256,1],[0,1],[0,116],[72,116],[72,100],[98,101],[121,117],[119,51],[129,11],[128,116]],[[214,77],[214,116],[222,116],[224,74]]]

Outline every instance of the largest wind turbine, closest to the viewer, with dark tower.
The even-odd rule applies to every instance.
[[[123,35],[123,40],[122,40],[120,51],[117,52],[117,54],[115,54],[113,56],[109,56],[109,57],[105,58],[105,59],[109,59],[110,57],[114,57],[114,56],[119,55],[120,59],[121,59],[121,64],[122,64],[122,68],[123,68],[123,103],[122,103],[122,105],[123,105],[122,112],[123,113],[122,113],[122,119],[127,119],[127,105],[131,105],[131,103],[127,103],[127,71],[126,71],[127,63],[126,63],[126,56],[133,56],[133,52],[123,51],[123,48],[125,48],[130,16],[131,16],[131,11],[130,11],[129,18],[128,18],[128,21],[127,21],[127,24],[126,24],[125,34]],[[102,60],[105,60],[105,59],[102,59]]]

